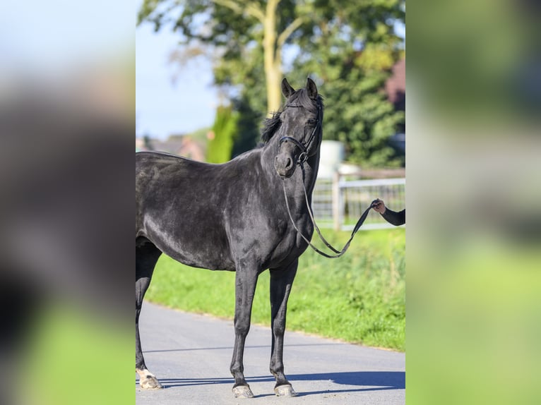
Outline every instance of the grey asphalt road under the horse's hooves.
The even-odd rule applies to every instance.
[[[231,320],[145,302],[139,326],[146,364],[165,389],[144,391],[136,375],[137,405],[405,404],[405,353],[286,331],[285,374],[298,396],[275,397],[268,371],[271,330],[252,325],[244,375],[255,397],[236,399],[229,371]]]

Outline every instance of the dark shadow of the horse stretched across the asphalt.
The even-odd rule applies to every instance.
[[[347,371],[343,373],[318,373],[288,375],[295,386],[295,381],[332,381],[338,385],[359,386],[362,388],[326,389],[314,392],[298,392],[299,396],[339,393],[339,392],[362,392],[381,391],[388,389],[405,389],[405,372],[403,371]],[[274,377],[259,376],[246,377],[247,382],[274,382]],[[232,377],[227,378],[160,378],[164,387],[188,387],[190,385],[228,384],[232,385]]]

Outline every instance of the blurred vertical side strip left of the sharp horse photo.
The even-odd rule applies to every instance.
[[[135,22],[0,5],[1,404],[133,403]]]

